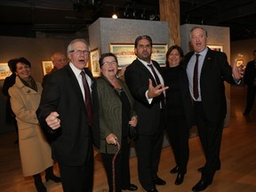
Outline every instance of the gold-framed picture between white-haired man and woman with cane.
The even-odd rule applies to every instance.
[[[100,48],[93,49],[90,52],[90,68],[92,71],[92,75],[97,77],[100,76]]]

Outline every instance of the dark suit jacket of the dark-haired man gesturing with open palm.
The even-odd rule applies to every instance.
[[[154,66],[161,73],[159,64],[152,60]],[[125,82],[132,93],[134,99],[134,110],[139,116],[138,132],[144,135],[153,135],[156,133],[160,119],[160,97],[152,100],[148,104],[145,92],[148,90],[148,79],[152,80],[154,86],[156,82],[154,77],[148,71],[140,60],[133,60],[125,70]]]

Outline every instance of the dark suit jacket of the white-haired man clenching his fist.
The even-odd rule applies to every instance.
[[[98,148],[100,145],[97,85],[89,69],[85,68],[84,70],[93,81],[94,124],[92,128],[88,125],[83,94],[69,65],[49,76],[49,81],[47,80],[47,84],[44,85],[39,108],[36,111],[40,123],[47,132],[52,132],[52,129],[47,126],[45,118],[52,111],[57,111],[60,114],[60,128],[56,132],[52,132],[56,134],[55,140],[52,141],[52,157],[61,164],[75,166],[84,164],[92,132],[95,145]]]

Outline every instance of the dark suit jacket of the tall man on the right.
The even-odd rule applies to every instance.
[[[188,52],[185,65],[195,52]],[[220,121],[227,114],[227,101],[224,81],[236,84],[232,76],[232,68],[228,65],[224,52],[208,49],[200,76],[202,104],[206,118],[210,121]]]

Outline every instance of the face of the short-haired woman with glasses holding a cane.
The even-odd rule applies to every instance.
[[[100,71],[103,76],[106,76],[108,79],[116,77],[117,70],[118,67],[115,57],[108,56],[102,60]]]

